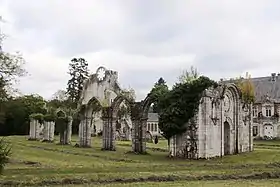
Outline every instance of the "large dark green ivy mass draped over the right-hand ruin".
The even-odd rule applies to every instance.
[[[173,89],[159,100],[159,128],[164,137],[181,134],[186,131],[187,123],[198,112],[199,102],[205,89],[217,86],[208,77],[185,83],[177,83]]]

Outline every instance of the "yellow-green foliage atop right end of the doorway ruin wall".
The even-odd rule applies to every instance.
[[[238,88],[241,90],[243,101],[253,103],[255,101],[255,89],[249,73],[246,73],[245,79],[240,77],[236,81]]]

